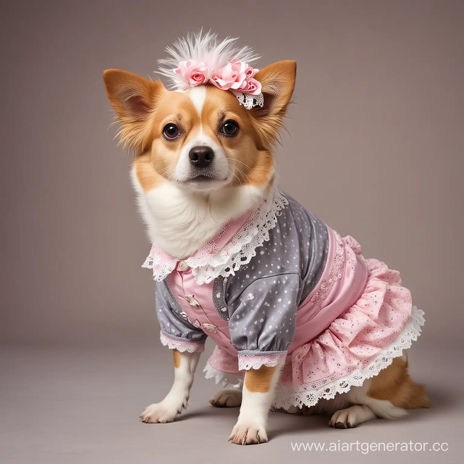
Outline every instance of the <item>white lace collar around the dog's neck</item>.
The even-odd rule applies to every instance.
[[[197,284],[208,284],[216,277],[233,275],[240,266],[248,264],[256,256],[256,249],[269,240],[269,231],[277,224],[277,216],[285,205],[288,200],[277,188],[273,189],[257,209],[242,216],[242,223],[234,221],[238,230],[226,243],[221,242],[232,222],[223,226],[194,256],[184,259],[192,268]],[[177,263],[177,259],[153,244],[142,267],[153,269],[153,278],[161,281],[174,271]]]

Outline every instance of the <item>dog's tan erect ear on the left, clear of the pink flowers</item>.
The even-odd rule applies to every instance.
[[[165,90],[163,84],[119,69],[103,71],[103,81],[117,122],[121,123],[120,143],[135,153],[142,152],[149,142],[148,121],[157,97]]]

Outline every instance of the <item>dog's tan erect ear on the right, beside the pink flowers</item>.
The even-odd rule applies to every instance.
[[[296,61],[284,60],[266,66],[255,79],[262,85],[264,106],[251,110],[256,118],[257,131],[264,147],[269,148],[277,141],[283,117],[293,94],[296,79]]]

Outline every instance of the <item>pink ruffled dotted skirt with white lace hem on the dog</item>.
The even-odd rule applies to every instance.
[[[324,279],[319,290],[315,289],[307,299],[309,305],[311,301],[314,303],[312,309],[301,313],[301,308],[298,309],[303,322],[297,315],[295,340],[289,348],[273,403],[276,408],[313,406],[322,398],[331,399],[353,386],[361,386],[364,380],[388,367],[394,357],[401,356],[420,335],[424,324],[424,313],[412,307],[411,293],[401,285],[400,273],[390,270],[377,259],[363,258],[361,247],[353,238],[348,236],[342,240],[336,232],[334,234],[344,268],[338,275],[343,278],[332,283],[327,296],[337,292],[339,296],[346,296],[348,294],[343,292],[349,290],[351,284],[355,284],[358,291],[354,297],[346,296],[346,301],[350,301],[348,309],[338,309],[337,316],[330,319],[332,322],[325,324],[327,328],[315,335],[309,332],[315,326],[317,330],[321,320],[330,315],[331,306],[337,305],[337,298],[332,301],[327,297],[323,301]],[[332,268],[335,270],[336,254],[334,247]],[[342,268],[342,265],[338,267]],[[335,275],[332,280],[336,281],[337,272],[330,274]],[[327,277],[325,282],[332,281]],[[315,309],[316,317],[308,317],[307,314]],[[310,341],[300,343],[299,340],[304,340],[308,334],[305,340]],[[217,347],[209,363],[214,370],[219,368],[227,373],[228,382],[233,383],[231,374],[237,373],[237,364],[230,354]],[[236,378],[243,378],[243,372],[237,374]],[[217,374],[208,375],[207,372],[208,376],[221,380]]]

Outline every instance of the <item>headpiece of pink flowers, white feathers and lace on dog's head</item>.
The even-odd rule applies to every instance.
[[[171,88],[175,90],[213,84],[230,90],[248,110],[263,106],[261,83],[254,78],[259,70],[248,64],[259,57],[250,47],[238,48],[236,40],[219,42],[211,32],[187,35],[187,39],[179,39],[166,48],[170,56],[158,60],[159,73],[173,81]]]

